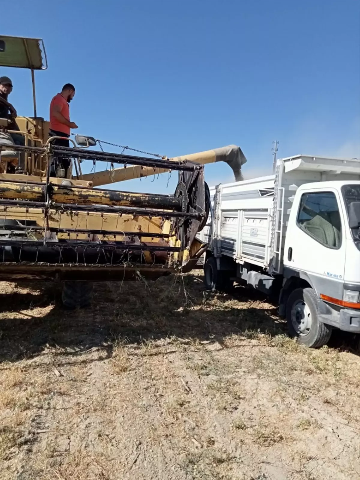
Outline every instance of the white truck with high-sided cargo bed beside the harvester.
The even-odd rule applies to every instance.
[[[234,279],[276,295],[291,336],[360,333],[360,161],[298,155],[274,175],[210,188],[200,234],[208,289]]]

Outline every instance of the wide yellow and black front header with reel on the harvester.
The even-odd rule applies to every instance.
[[[13,149],[41,159],[48,171],[38,180],[10,175],[0,179],[0,219],[16,219],[9,233],[2,226],[0,279],[75,282],[65,284],[63,292],[64,304],[72,308],[85,306],[90,298],[89,285],[76,282],[158,278],[190,261],[190,247],[206,211],[203,165],[172,161],[171,170],[179,171],[173,195],[121,192],[92,188],[80,169],[76,178],[52,178],[51,160],[154,170],[169,169],[170,162],[52,144]]]

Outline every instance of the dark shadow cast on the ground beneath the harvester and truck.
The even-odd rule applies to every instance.
[[[92,308],[72,312],[61,307],[60,285],[17,287],[20,292],[17,288],[1,295],[0,361],[31,358],[49,347],[71,349],[74,355],[100,347],[110,356],[119,339],[142,344],[174,337],[222,344],[231,335],[253,339],[287,332],[276,306],[258,292],[241,287],[228,293],[206,292],[202,277],[196,275],[149,284],[98,283]],[[357,341],[336,335],[332,347],[359,354]]]

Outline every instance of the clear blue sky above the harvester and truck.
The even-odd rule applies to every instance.
[[[360,2],[0,1],[3,35],[41,37],[38,115],[62,84],[79,133],[167,156],[238,144],[245,178],[278,156],[360,157]],[[32,114],[30,72],[9,100]],[[209,185],[232,181],[223,163]],[[167,192],[167,175],[117,184]],[[176,175],[168,185],[171,192]]]

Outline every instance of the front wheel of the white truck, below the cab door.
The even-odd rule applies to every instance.
[[[319,320],[318,298],[312,288],[297,288],[290,293],[286,320],[290,336],[309,348],[320,348],[330,339],[332,329]]]

